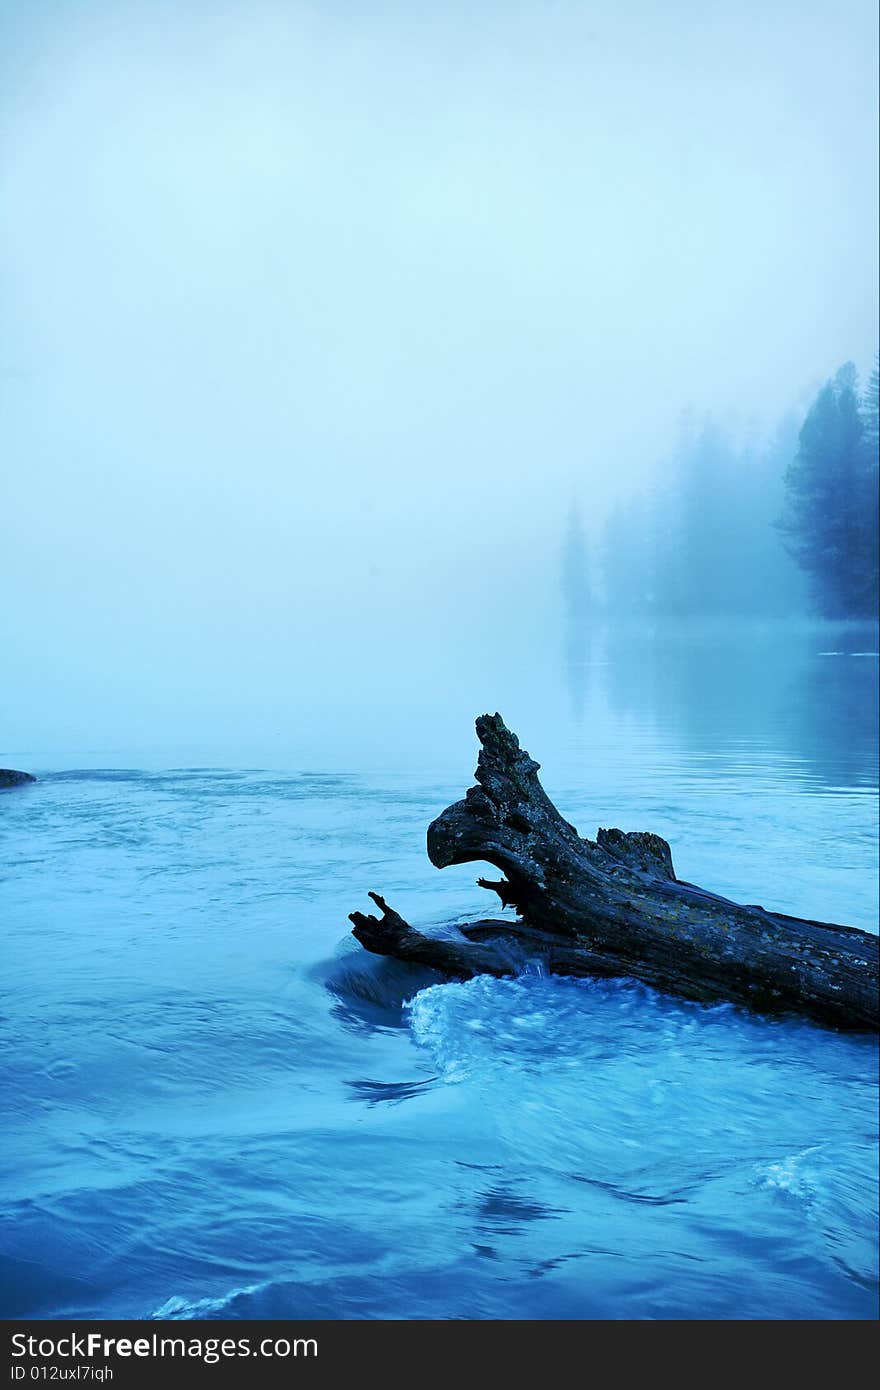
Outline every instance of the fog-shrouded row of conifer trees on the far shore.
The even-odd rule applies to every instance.
[[[570,614],[876,617],[877,385],[847,363],[769,448],[691,431],[663,481],[612,512],[595,566],[573,513]]]

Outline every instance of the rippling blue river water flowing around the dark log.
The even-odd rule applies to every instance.
[[[876,930],[872,649],[606,637],[492,703],[584,833]],[[0,1314],[876,1316],[873,1040],[350,941],[367,888],[485,910],[424,853],[475,755],[437,709],[370,766],[3,751]]]

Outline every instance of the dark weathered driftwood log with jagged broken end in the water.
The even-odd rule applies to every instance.
[[[720,898],[676,878],[648,831],[578,835],[538,781],[539,763],[500,714],[477,720],[477,785],[428,827],[438,869],[487,862],[480,878],[519,920],[417,931],[371,892],[381,916],[353,912],[368,951],[453,979],[516,974],[527,962],[570,976],[633,976],[688,999],[877,1029],[877,937]]]

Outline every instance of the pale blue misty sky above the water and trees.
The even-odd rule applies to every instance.
[[[0,751],[378,703],[870,367],[873,0],[0,17]]]

